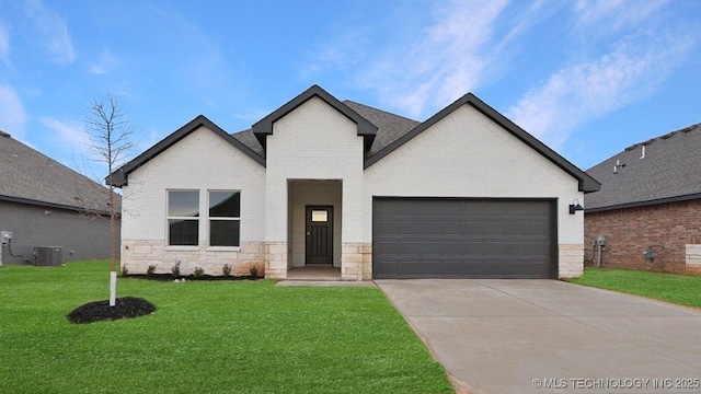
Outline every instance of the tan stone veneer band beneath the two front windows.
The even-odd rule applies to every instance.
[[[123,240],[122,266],[129,274],[146,274],[149,266],[157,266],[157,274],[170,274],[173,265],[180,262],[182,275],[189,275],[195,267],[205,269],[206,275],[222,275],[225,264],[231,265],[231,275],[250,275],[256,267],[258,275],[265,275],[265,244],[263,242],[243,242],[240,251],[207,250],[202,242],[194,251],[168,250],[163,241]]]

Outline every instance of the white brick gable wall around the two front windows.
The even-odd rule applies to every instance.
[[[129,174],[129,184],[123,188],[123,244],[164,242],[166,189],[177,188],[200,190],[200,212],[208,209],[208,189],[241,190],[241,243],[265,241],[265,167],[200,127]],[[206,248],[207,225],[206,220],[199,221],[200,246],[194,254]],[[218,259],[227,258],[226,253],[218,253]],[[129,254],[123,254],[123,262],[129,264]]]

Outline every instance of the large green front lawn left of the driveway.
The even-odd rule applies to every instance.
[[[108,264],[0,267],[0,393],[449,393],[376,288],[119,278],[148,316],[72,324]]]

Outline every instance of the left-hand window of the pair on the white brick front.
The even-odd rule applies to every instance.
[[[199,192],[168,192],[169,246],[197,246],[199,240]]]

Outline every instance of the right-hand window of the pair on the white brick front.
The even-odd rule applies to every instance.
[[[241,192],[209,192],[209,246],[240,246]]]

